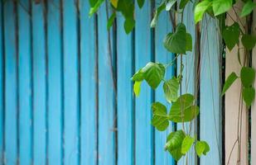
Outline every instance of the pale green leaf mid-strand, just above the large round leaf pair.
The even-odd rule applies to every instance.
[[[176,101],[178,97],[179,81],[173,77],[167,82],[163,83],[163,91],[168,102]]]

